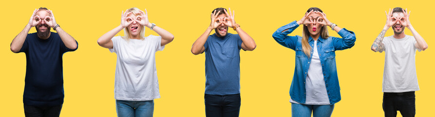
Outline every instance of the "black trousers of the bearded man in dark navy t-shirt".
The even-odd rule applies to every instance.
[[[37,107],[24,105],[24,115],[26,117],[59,117],[62,105]]]

